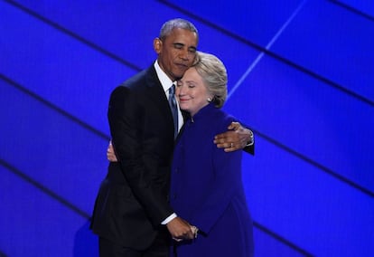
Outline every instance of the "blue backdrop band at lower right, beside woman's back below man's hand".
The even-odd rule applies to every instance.
[[[374,198],[260,137],[243,170],[257,223],[313,256],[373,256]]]

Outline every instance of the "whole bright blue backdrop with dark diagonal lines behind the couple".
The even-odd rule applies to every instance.
[[[174,17],[256,134],[256,256],[374,256],[374,2],[0,0],[0,256],[98,256],[108,97]]]

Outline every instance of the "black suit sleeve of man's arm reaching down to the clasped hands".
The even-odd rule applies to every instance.
[[[126,87],[118,87],[111,94],[108,121],[118,161],[128,185],[145,209],[154,225],[173,210],[168,205],[160,186],[154,183],[157,166],[146,165],[142,151],[145,109],[136,100],[136,94]]]

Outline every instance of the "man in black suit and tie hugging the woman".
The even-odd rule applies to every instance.
[[[108,120],[118,162],[109,164],[92,217],[100,256],[168,256],[170,235],[193,237],[190,224],[168,204],[174,135],[183,122],[179,109],[173,117],[168,100],[173,82],[192,65],[198,40],[190,22],[166,22],[154,39],[156,62],[110,96]],[[236,149],[248,138],[247,131],[231,133],[217,143]]]

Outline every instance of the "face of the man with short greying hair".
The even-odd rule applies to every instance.
[[[173,29],[164,41],[154,40],[158,64],[172,81],[182,78],[196,55],[197,34],[185,29]]]

